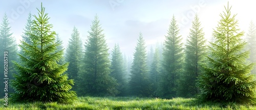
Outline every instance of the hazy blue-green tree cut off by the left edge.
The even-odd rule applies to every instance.
[[[0,73],[1,73],[1,77],[0,77],[0,81],[2,82],[2,84],[0,84],[1,89],[3,90],[5,88],[5,84],[3,83],[5,80],[4,78],[9,78],[9,79],[13,79],[12,75],[16,74],[16,72],[14,71],[14,64],[12,63],[12,60],[17,61],[17,45],[16,45],[16,41],[14,39],[14,37],[12,36],[12,33],[10,33],[11,31],[11,27],[9,26],[9,20],[8,17],[6,15],[6,13],[4,14],[3,17],[3,22],[1,23],[0,26],[0,44],[1,44],[1,48],[0,48]],[[7,58],[4,59],[4,54],[7,53],[8,56],[6,56]],[[7,61],[8,63],[4,63],[4,60]],[[4,65],[4,64],[7,64]],[[7,68],[5,68],[7,67]],[[8,74],[5,74],[4,71],[5,69],[8,69]],[[8,77],[5,77],[5,75],[7,75]],[[7,92],[7,91],[6,91]],[[14,92],[14,90],[12,89],[12,87],[8,87],[8,93],[12,93]],[[5,91],[0,91],[0,95],[4,96]]]

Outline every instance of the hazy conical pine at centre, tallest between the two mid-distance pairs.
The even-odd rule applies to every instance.
[[[137,46],[133,54],[131,68],[130,93],[133,96],[146,97],[150,95],[150,85],[146,65],[146,47],[142,33],[139,33]]]

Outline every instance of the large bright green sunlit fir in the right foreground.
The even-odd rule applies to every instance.
[[[227,5],[214,30],[216,41],[210,43],[210,56],[203,64],[203,74],[197,85],[201,89],[199,100],[218,102],[255,103],[256,81],[250,73],[253,64],[245,64],[249,52],[243,52],[246,42],[239,32],[236,15]]]

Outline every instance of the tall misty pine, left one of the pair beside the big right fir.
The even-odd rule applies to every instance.
[[[182,73],[183,48],[182,38],[179,35],[179,28],[175,16],[169,25],[167,36],[165,36],[162,72],[157,91],[157,96],[162,98],[176,97],[178,88],[177,80]]]

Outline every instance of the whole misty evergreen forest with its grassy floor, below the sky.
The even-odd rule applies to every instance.
[[[196,14],[183,43],[173,15],[165,40],[150,51],[146,50],[143,33],[138,33],[136,47],[131,47],[134,48],[132,59],[122,53],[118,43],[109,48],[97,14],[86,42],[82,42],[74,26],[68,46],[63,48],[45,10],[41,3],[37,14],[29,13],[19,44],[12,36],[7,14],[3,17],[0,82],[4,83],[0,88],[5,91],[0,91],[4,96],[1,106],[31,102],[41,109],[50,109],[57,103],[72,104],[78,100],[82,105],[82,101],[101,100],[99,105],[112,106],[105,109],[125,109],[127,103],[139,109],[172,108],[169,105],[185,106],[176,109],[208,109],[211,107],[207,104],[211,102],[241,104],[231,109],[242,109],[243,105],[253,109],[256,103],[256,27],[251,21],[248,31],[240,30],[237,14],[231,13],[229,4],[218,16],[220,20],[212,30],[211,41],[207,42],[201,18]],[[110,100],[123,102],[117,106],[112,104],[119,102]],[[105,106],[87,107],[103,109]],[[127,105],[127,108],[135,107]]]

